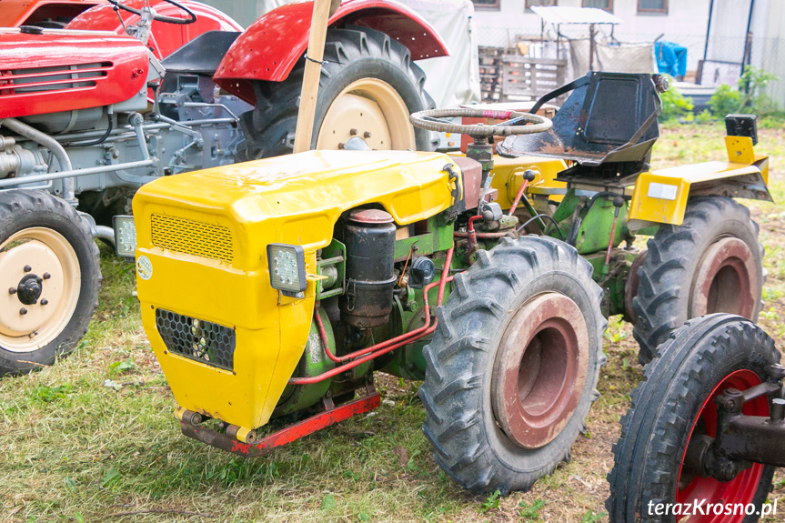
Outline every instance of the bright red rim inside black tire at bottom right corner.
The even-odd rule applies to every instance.
[[[717,436],[717,406],[714,397],[728,388],[746,390],[750,387],[760,385],[760,377],[751,370],[742,369],[732,372],[725,377],[709,397],[703,402],[697,417],[692,422],[689,431],[689,439],[684,447],[681,462],[687,455],[689,440],[693,434],[706,434],[711,438]],[[769,404],[766,397],[759,397],[744,405],[742,412],[748,416],[769,416]],[[742,503],[752,502],[755,493],[760,485],[760,478],[763,475],[763,466],[759,463],[752,465],[727,483],[720,483],[714,478],[681,477],[681,466],[679,466],[679,479],[677,481],[676,502],[681,504],[692,504],[703,499],[707,503]],[[689,518],[690,523],[740,523],[745,515],[728,516],[725,514],[697,515]],[[680,518],[678,518],[680,519]]]

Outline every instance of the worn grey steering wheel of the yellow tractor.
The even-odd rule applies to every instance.
[[[444,118],[495,118],[504,120],[493,126],[474,124],[458,125]],[[544,133],[553,126],[550,118],[518,113],[517,111],[489,111],[488,109],[429,109],[418,111],[409,116],[412,126],[437,131],[439,133],[458,133],[461,135],[481,138],[483,136],[512,136]],[[527,126],[526,124],[532,124]]]

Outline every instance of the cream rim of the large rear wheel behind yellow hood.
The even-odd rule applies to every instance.
[[[363,78],[338,94],[317,135],[317,149],[342,149],[351,139],[371,149],[416,149],[408,107],[387,82]]]

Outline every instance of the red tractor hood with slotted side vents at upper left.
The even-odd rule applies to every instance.
[[[108,106],[145,88],[147,49],[130,36],[0,28],[0,118]]]

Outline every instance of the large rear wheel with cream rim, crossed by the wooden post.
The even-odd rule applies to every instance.
[[[257,106],[241,120],[245,159],[292,152],[304,68],[301,58],[283,82],[255,84]],[[329,29],[311,147],[351,148],[361,140],[371,149],[433,150],[429,132],[408,119],[434,106],[424,84],[408,49],[384,33]]]

